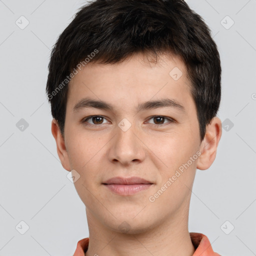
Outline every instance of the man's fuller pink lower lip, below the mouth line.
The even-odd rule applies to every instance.
[[[131,195],[149,188],[152,184],[104,184],[119,195]]]

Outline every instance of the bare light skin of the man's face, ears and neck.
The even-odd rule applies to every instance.
[[[80,175],[74,185],[86,206],[90,238],[86,256],[191,256],[194,252],[188,232],[192,184],[196,168],[207,169],[215,159],[221,121],[214,117],[200,141],[184,63],[167,54],[161,54],[156,64],[148,59],[148,55],[136,53],[115,64],[90,62],[71,80],[64,138],[52,120],[63,168]],[[178,80],[169,75],[174,67],[183,73]],[[73,111],[84,97],[111,103],[114,110]],[[185,111],[173,107],[135,110],[141,102],[166,97],[178,101]],[[82,121],[90,115],[104,118],[90,118],[87,123],[92,126],[86,126]],[[159,115],[175,121],[151,118]],[[123,118],[131,124],[126,131],[118,126]],[[196,152],[200,152],[197,159],[149,201]],[[115,176],[139,176],[153,185],[133,195],[118,195],[102,184]]]

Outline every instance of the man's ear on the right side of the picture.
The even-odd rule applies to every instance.
[[[216,157],[219,139],[222,134],[221,120],[213,117],[206,126],[204,138],[200,144],[200,156],[198,157],[196,168],[205,170],[210,167]]]

